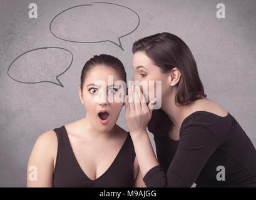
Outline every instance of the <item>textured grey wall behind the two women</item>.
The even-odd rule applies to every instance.
[[[28,17],[31,2],[38,5],[38,19]],[[40,134],[84,118],[86,111],[79,101],[78,86],[85,61],[95,54],[112,54],[123,61],[128,80],[131,80],[133,42],[156,32],[172,32],[188,44],[208,98],[230,112],[256,146],[255,0],[104,2],[121,4],[140,16],[138,28],[120,38],[124,51],[113,42],[84,44],[63,41],[49,30],[50,22],[59,12],[91,1],[0,1],[1,187],[26,186],[28,158]],[[225,4],[225,19],[216,17],[219,2]],[[108,22],[103,23],[101,17],[104,16],[92,10],[66,12],[66,16],[54,21],[54,30],[67,37],[77,36],[76,39],[83,39],[83,34],[79,33],[88,30],[86,38],[104,37],[118,42],[117,36],[132,31],[138,19],[127,9],[116,11],[116,8],[106,7],[110,14]],[[99,7],[98,11],[101,9]],[[70,27],[66,26],[67,21]],[[84,21],[87,24],[83,24]],[[102,32],[101,26],[106,26],[105,31]],[[73,54],[70,68],[58,77],[64,88],[53,83],[19,83],[8,76],[8,67],[14,59],[26,51],[46,46],[61,47]],[[64,49],[41,49],[24,54],[13,63],[10,72],[23,82],[36,82],[46,77],[48,81],[58,83],[56,75],[71,63],[71,54]],[[127,129],[124,112],[123,108],[118,124]]]

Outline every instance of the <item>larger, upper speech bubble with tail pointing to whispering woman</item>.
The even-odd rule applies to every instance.
[[[132,9],[109,2],[91,2],[59,12],[49,29],[58,39],[68,42],[111,42],[123,47],[121,37],[134,32],[140,17]]]

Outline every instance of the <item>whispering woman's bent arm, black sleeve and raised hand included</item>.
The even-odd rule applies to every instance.
[[[130,94],[131,92],[129,96]],[[191,187],[208,158],[217,149],[220,139],[202,126],[186,128],[180,134],[177,152],[166,174],[155,158],[146,133],[150,117],[151,111],[142,101],[126,103],[126,123],[135,146],[143,181],[148,187]]]

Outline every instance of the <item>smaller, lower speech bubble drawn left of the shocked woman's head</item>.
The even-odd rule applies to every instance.
[[[72,63],[73,54],[68,49],[41,47],[26,51],[14,59],[7,73],[9,78],[19,83],[46,82],[64,88],[58,77],[66,73]],[[62,73],[59,73],[60,71]]]

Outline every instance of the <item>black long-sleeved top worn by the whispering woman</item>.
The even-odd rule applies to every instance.
[[[183,121],[178,141],[154,139],[161,166],[145,174],[148,187],[256,187],[256,150],[230,113],[196,111]]]

